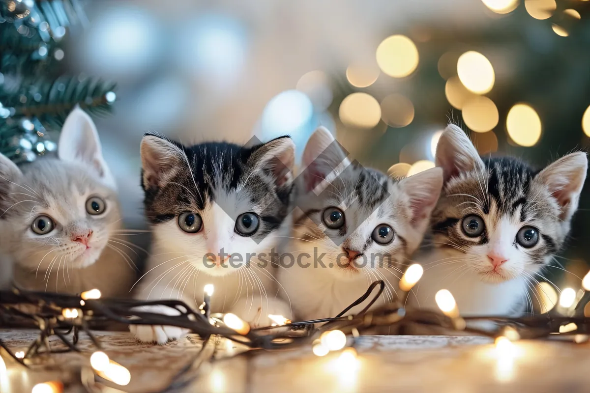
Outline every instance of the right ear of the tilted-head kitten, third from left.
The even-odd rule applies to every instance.
[[[432,168],[399,180],[399,187],[409,197],[412,221],[429,220],[442,190],[442,169]]]

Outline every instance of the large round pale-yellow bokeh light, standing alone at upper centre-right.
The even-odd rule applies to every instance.
[[[418,48],[405,35],[392,35],[379,44],[377,64],[390,77],[407,77],[418,67]]]

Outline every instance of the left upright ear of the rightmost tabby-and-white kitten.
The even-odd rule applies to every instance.
[[[442,167],[444,181],[461,172],[484,169],[484,163],[473,143],[454,124],[449,124],[438,140],[435,163]]]

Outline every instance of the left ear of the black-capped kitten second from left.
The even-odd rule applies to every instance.
[[[186,165],[184,150],[163,136],[146,134],[140,147],[143,190],[165,186]]]

